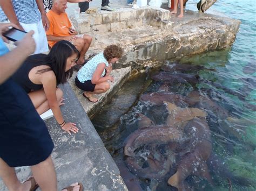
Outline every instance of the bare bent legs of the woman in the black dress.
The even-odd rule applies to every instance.
[[[57,102],[59,103],[59,105],[62,105],[63,91],[59,88],[56,88],[56,96],[57,96]],[[43,114],[45,111],[50,109],[43,89],[30,92],[29,97],[39,115]]]

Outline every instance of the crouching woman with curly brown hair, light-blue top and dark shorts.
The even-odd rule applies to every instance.
[[[89,60],[78,72],[76,77],[76,86],[84,90],[83,96],[90,102],[98,102],[94,94],[102,94],[109,90],[112,64],[116,63],[122,56],[123,49],[117,45],[110,45]]]

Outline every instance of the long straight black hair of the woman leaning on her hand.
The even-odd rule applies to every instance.
[[[47,68],[38,70],[37,74],[52,70],[56,76],[57,86],[60,83],[65,83],[67,79],[69,79],[73,74],[72,68],[65,72],[66,61],[73,54],[77,54],[78,60],[80,57],[80,52],[74,45],[66,40],[58,41],[55,45],[52,46],[48,55],[44,56],[41,60],[37,60],[37,62],[42,61],[45,63],[45,65],[49,65],[51,69]]]

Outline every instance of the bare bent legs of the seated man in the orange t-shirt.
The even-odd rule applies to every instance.
[[[84,63],[84,56],[91,45],[91,41],[92,41],[91,36],[89,36],[87,34],[84,34],[83,38],[77,38],[74,41],[74,46],[80,52],[80,58],[77,61],[78,65],[82,65]]]

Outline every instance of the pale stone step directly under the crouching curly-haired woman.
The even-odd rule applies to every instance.
[[[69,83],[72,87],[73,92],[76,94],[79,102],[82,104],[86,114],[91,118],[93,115],[97,114],[101,107],[123,86],[124,82],[131,76],[131,67],[126,67],[122,69],[116,69],[111,72],[111,76],[114,77],[114,81],[110,82],[110,89],[103,94],[98,94],[95,97],[98,98],[97,103],[92,103],[85,99],[82,94],[83,90],[76,87],[75,78],[77,73],[74,73]]]

